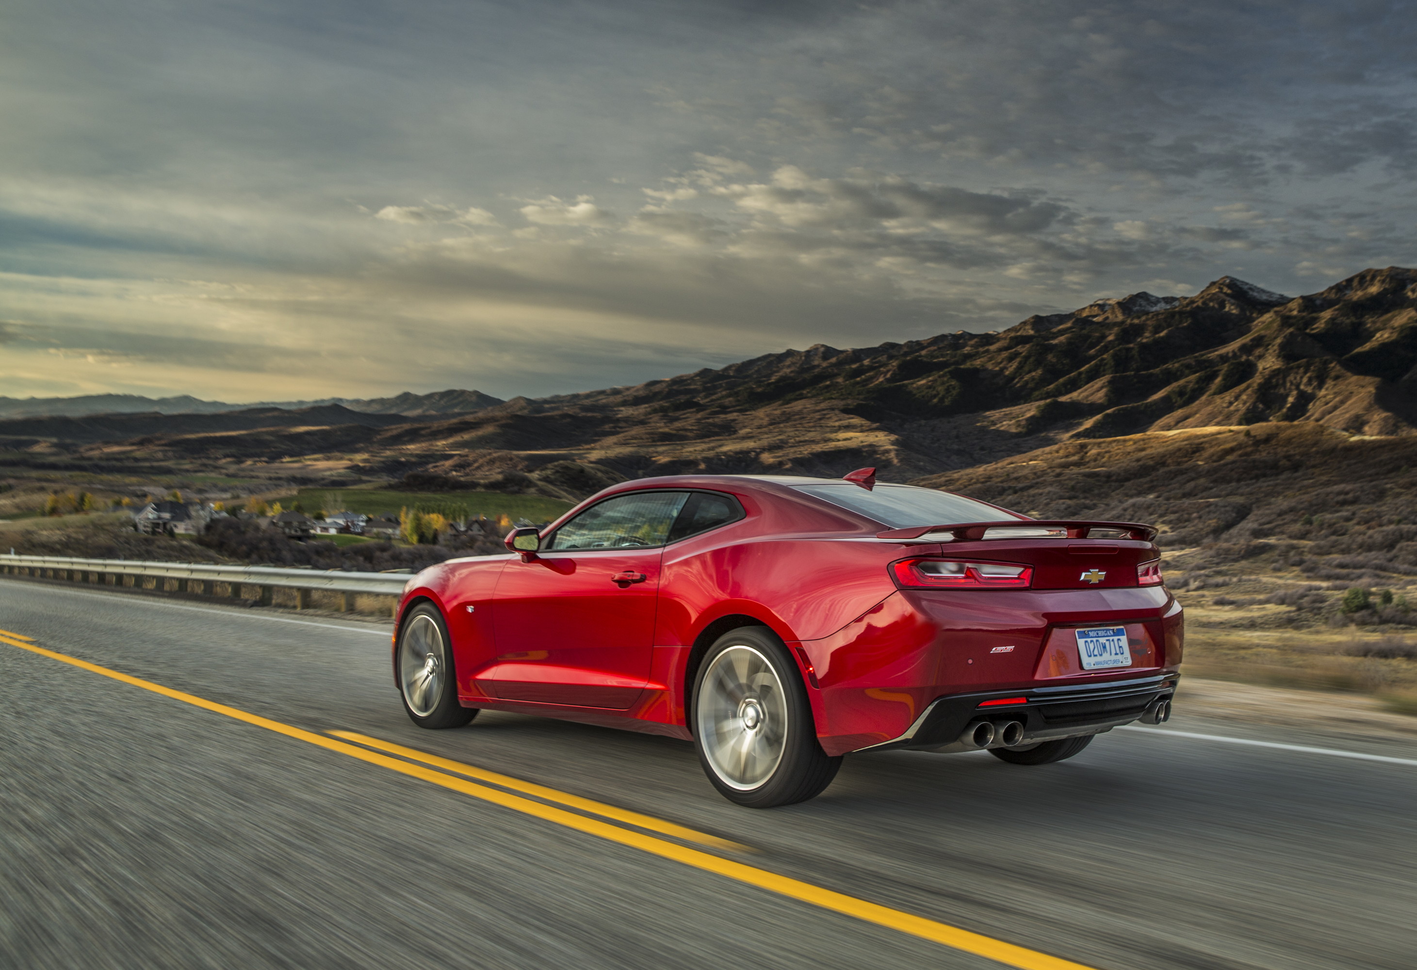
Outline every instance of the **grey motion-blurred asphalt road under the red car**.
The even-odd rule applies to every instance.
[[[309,741],[329,731],[1087,967],[1417,966],[1417,765],[1114,731],[1044,768],[853,756],[815,801],[750,811],[686,742],[506,714],[414,728],[383,624],[3,579],[0,630],[295,729],[0,643],[4,967],[1002,966]]]

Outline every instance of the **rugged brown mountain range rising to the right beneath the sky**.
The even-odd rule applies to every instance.
[[[445,391],[293,404],[13,418],[0,421],[0,463],[239,464],[244,476],[332,483],[417,473],[465,487],[534,481],[568,462],[625,477],[874,464],[905,481],[1179,429],[1309,422],[1401,438],[1417,433],[1417,272],[1369,269],[1297,297],[1224,276],[1196,296],[1132,293],[998,333],[818,344],[537,399]]]

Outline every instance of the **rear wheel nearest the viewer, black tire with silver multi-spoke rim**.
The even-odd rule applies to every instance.
[[[708,649],[691,694],[690,726],[704,775],[747,809],[820,794],[842,766],[816,741],[796,663],[772,630],[741,626]]]

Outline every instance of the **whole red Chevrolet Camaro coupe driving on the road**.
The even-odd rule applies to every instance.
[[[640,479],[414,576],[394,680],[424,728],[487,708],[691,739],[751,807],[859,751],[1046,765],[1169,717],[1182,612],[1153,537],[871,469]]]

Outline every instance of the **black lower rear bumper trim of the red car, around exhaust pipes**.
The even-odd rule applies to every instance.
[[[1002,726],[1010,721],[1023,725],[1023,739],[1017,743],[1077,738],[1102,734],[1131,724],[1161,702],[1169,702],[1176,692],[1179,674],[1159,674],[1110,684],[1073,684],[1037,687],[1024,691],[989,691],[982,694],[948,694],[938,697],[921,712],[910,728],[891,741],[860,751],[978,751],[962,742],[966,728],[978,721]],[[981,707],[986,701],[1024,697],[1024,704]],[[999,746],[998,743],[989,746]]]

